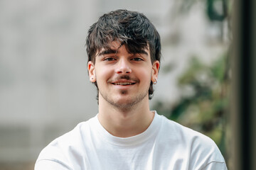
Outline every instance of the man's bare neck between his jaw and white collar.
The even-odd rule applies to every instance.
[[[132,137],[144,132],[154,118],[149,99],[129,108],[117,108],[99,98],[98,118],[102,126],[116,137]]]

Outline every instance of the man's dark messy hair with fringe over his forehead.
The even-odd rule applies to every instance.
[[[120,9],[101,16],[88,30],[86,39],[87,62],[92,61],[95,64],[97,52],[100,52],[102,48],[109,50],[113,41],[119,41],[125,45],[127,51],[132,54],[140,53],[149,45],[151,63],[153,64],[156,60],[160,62],[161,42],[159,33],[143,13]],[[97,87],[97,82],[95,82],[95,86]],[[153,93],[153,82],[151,81],[149,99],[152,98]]]

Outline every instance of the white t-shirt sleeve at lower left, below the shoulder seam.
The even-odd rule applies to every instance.
[[[35,170],[71,170],[71,168],[57,160],[41,159],[35,164]]]

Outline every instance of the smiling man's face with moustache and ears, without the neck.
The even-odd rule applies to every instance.
[[[127,108],[148,101],[149,85],[156,81],[159,61],[151,63],[149,49],[130,54],[125,45],[112,42],[111,50],[97,52],[95,64],[88,62],[90,81],[97,81],[99,104]]]

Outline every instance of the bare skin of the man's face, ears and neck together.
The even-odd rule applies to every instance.
[[[111,45],[112,50],[97,52],[95,63],[88,62],[87,68],[99,89],[100,123],[114,136],[131,137],[144,132],[154,118],[148,92],[157,79],[159,61],[151,63],[149,49],[130,54],[119,42]]]

